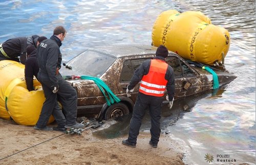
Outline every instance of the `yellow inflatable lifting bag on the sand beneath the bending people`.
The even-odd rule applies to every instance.
[[[1,67],[5,72],[1,70]],[[17,124],[33,126],[39,118],[45,96],[37,80],[33,83],[38,89],[28,91],[24,69],[25,66],[18,62],[0,61],[0,77],[5,78],[0,83],[0,117],[4,119],[12,117]],[[51,116],[48,123],[53,121],[54,118]]]

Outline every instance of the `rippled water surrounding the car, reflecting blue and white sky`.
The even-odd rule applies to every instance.
[[[227,154],[240,163],[255,163],[255,1],[0,1],[0,42],[34,34],[50,37],[55,26],[68,34],[61,46],[63,61],[97,45],[151,44],[157,16],[165,10],[197,10],[231,37],[225,66],[238,78],[219,89],[174,103],[162,112],[162,131],[184,145],[184,162],[208,164]],[[149,116],[142,130],[148,130]],[[130,119],[98,133],[114,138],[127,134]],[[117,129],[118,128],[118,129]]]

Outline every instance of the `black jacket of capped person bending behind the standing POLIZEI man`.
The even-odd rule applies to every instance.
[[[35,76],[37,79],[38,71],[39,66],[36,62],[36,50],[34,50],[25,62],[25,80],[29,91],[34,90],[33,77]]]

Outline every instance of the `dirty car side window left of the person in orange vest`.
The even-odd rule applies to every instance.
[[[123,62],[123,68],[120,76],[120,82],[130,81],[134,71],[142,64],[143,61],[151,58],[130,59]]]

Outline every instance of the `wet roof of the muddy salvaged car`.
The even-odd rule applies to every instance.
[[[128,45],[107,45],[97,46],[96,48],[88,49],[97,52],[105,53],[116,58],[132,55],[155,54],[157,47],[152,45],[128,44]],[[170,51],[169,51],[170,52]]]

